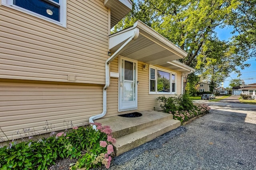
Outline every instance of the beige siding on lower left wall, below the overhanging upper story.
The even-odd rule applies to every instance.
[[[9,138],[14,131],[30,128],[44,133],[46,121],[54,130],[65,123],[82,126],[102,113],[102,88],[92,84],[40,84],[34,81],[1,81],[0,126]],[[3,134],[0,134],[3,136]]]

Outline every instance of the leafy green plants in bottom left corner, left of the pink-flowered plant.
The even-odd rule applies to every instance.
[[[57,151],[58,150],[58,151]],[[0,148],[0,170],[43,170],[54,164],[62,149],[54,137],[16,143]]]

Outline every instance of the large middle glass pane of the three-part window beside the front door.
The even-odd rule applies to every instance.
[[[170,73],[157,70],[157,91],[170,92]]]

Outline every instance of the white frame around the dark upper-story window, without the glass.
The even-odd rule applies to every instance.
[[[51,1],[51,0],[49,0]],[[13,5],[13,0],[2,0],[2,5],[7,6],[8,8],[12,8],[14,10],[23,12],[25,14],[34,16],[36,18],[40,18],[42,20],[48,21],[50,23],[54,23],[56,25],[67,27],[67,1],[66,0],[60,0],[60,21],[52,20],[51,18],[48,18],[46,16],[42,16],[40,14],[37,14],[35,12],[32,12],[30,10],[26,10],[24,8],[21,8],[19,6]]]

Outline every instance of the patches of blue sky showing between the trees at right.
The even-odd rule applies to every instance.
[[[223,29],[217,28],[215,29],[217,32],[217,36],[220,40],[228,40],[232,37],[232,34],[230,33],[232,31],[232,28],[225,27]],[[241,80],[244,80],[245,84],[251,84],[256,83],[256,57],[253,57],[251,59],[248,59],[246,61],[247,64],[251,64],[250,67],[246,67],[244,70],[238,67],[238,69],[241,71],[242,75],[240,76]],[[226,88],[228,87],[228,84],[230,80],[238,78],[237,74],[230,73],[230,76],[226,78],[226,80],[223,82],[223,86]]]

